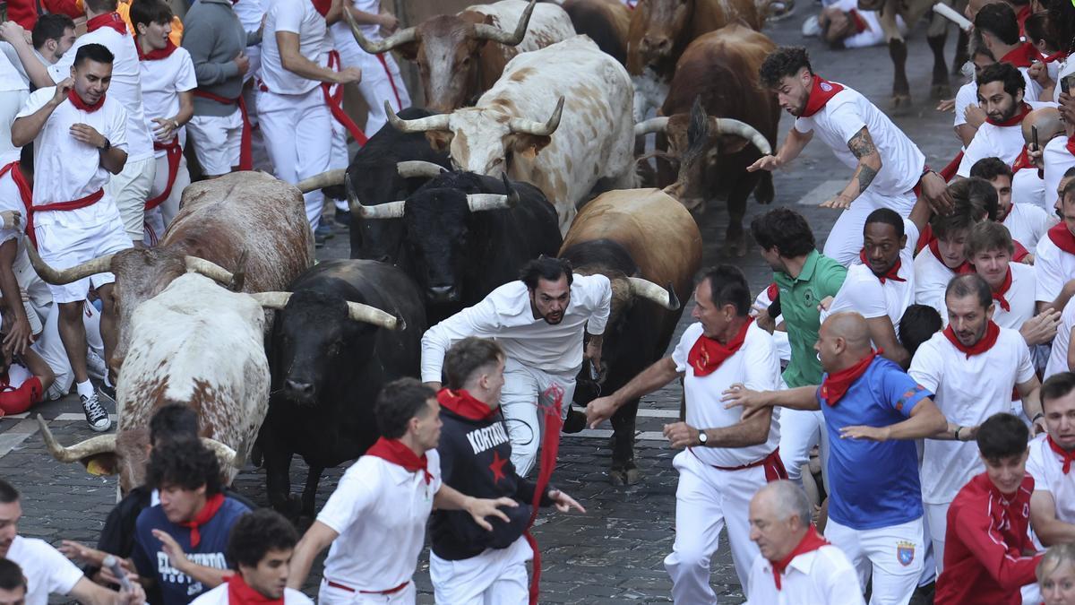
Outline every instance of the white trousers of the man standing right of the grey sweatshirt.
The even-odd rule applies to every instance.
[[[329,169],[332,119],[320,87],[304,95],[258,92],[258,117],[276,178],[298,183]],[[320,222],[325,194],[303,195],[312,229]]]

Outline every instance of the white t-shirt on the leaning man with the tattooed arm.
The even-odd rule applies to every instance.
[[[918,184],[926,166],[926,156],[892,121],[858,90],[842,84],[820,111],[811,117],[796,119],[796,130],[814,131],[832,149],[836,158],[848,168],[859,165],[858,158],[847,149],[851,137],[865,126],[870,138],[880,153],[880,172],[874,177],[866,191],[880,195],[903,195]]]

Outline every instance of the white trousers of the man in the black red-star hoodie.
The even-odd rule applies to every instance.
[[[430,551],[429,577],[436,605],[526,605],[530,601],[527,561],[533,550],[519,536],[507,548],[487,548],[461,561]]]

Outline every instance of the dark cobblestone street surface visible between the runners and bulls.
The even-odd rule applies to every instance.
[[[778,43],[802,43],[799,28],[807,10],[813,11],[815,6],[804,0],[796,16],[771,25],[766,33]],[[940,167],[954,154],[955,139],[950,116],[938,115],[933,111],[935,103],[927,98],[931,62],[923,33],[919,29],[911,42],[908,73],[916,96],[915,104],[911,115],[895,121],[922,147],[928,161]],[[955,47],[954,39],[955,36],[951,36],[948,44],[949,57]],[[816,40],[809,40],[806,45],[819,73],[849,84],[880,107],[887,107],[891,68],[886,48],[833,52]],[[952,84],[958,86],[955,80]],[[782,131],[789,127],[790,118],[784,116]],[[783,140],[783,135],[780,138]],[[819,143],[815,143],[789,170],[776,174],[775,203],[797,207],[804,212],[821,242],[828,235],[834,214],[802,206],[799,201],[812,197],[812,192],[814,197],[819,192],[834,193],[838,185],[833,186],[831,182],[846,182],[849,178],[850,172]],[[751,201],[747,221],[764,210]],[[720,205],[712,205],[707,214],[700,217],[700,225],[705,238],[707,264],[731,262],[740,265],[756,291],[770,283],[771,272],[752,248],[745,258],[720,257],[727,226],[727,213]],[[330,240],[319,256],[345,257],[347,252],[347,238],[343,233]],[[688,313],[680,322],[680,330],[689,323]],[[671,458],[675,452],[663,440],[654,437],[659,437],[661,424],[675,416],[678,394],[665,389],[645,398],[642,407],[640,416],[645,416],[640,418],[639,431],[643,432],[642,437],[648,439],[637,445],[639,465],[644,478],[636,486],[613,488],[607,483],[607,432],[564,437],[555,481],[583,502],[589,512],[585,516],[550,513],[539,520],[534,534],[544,559],[543,603],[671,602],[671,583],[662,561],[671,549],[674,534],[676,476],[671,468]],[[91,436],[81,420],[81,408],[73,398],[43,405],[40,411],[49,420],[53,432],[61,442],[71,444]],[[302,484],[304,474],[305,467],[297,462],[293,466],[295,486]],[[328,472],[321,481],[318,506],[331,493],[341,474],[342,469]],[[96,540],[115,502],[116,484],[113,478],[91,477],[80,465],[62,465],[53,461],[37,434],[37,425],[29,420],[0,420],[0,476],[23,491],[25,518],[19,526],[20,533],[54,544],[61,538]],[[239,476],[235,487],[254,502],[266,504],[264,477],[260,470],[248,467]],[[422,554],[415,576],[422,593],[419,603],[432,603],[427,557],[428,552]],[[319,573],[319,567],[315,571]],[[307,587],[311,594],[316,592],[314,581],[316,578]],[[722,546],[714,559],[713,586],[722,602],[742,601],[742,590],[727,546]]]

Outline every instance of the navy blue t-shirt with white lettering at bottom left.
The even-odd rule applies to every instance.
[[[192,563],[217,569],[227,569],[228,563],[224,553],[228,549],[228,534],[232,525],[243,515],[249,512],[246,505],[224,498],[216,515],[209,523],[198,527],[200,540],[198,548],[190,547],[190,530],[182,527],[168,520],[160,505],[143,509],[134,525],[134,550],[131,558],[142,577],[153,578],[160,587],[163,603],[153,605],[186,605],[209,589],[186,574],[172,567],[168,555],[161,550],[161,543],[154,537],[153,530],[163,530],[175,538]]]

